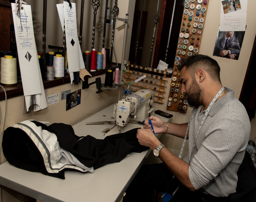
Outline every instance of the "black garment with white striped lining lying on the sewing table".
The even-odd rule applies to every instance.
[[[18,168],[65,179],[66,170],[93,172],[120,162],[129,152],[149,149],[139,144],[137,129],[98,140],[90,135],[78,137],[67,124],[23,121],[4,131],[3,153]]]

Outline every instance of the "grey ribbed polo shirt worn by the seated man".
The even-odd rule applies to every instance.
[[[229,196],[236,191],[237,170],[242,163],[250,135],[250,121],[244,106],[234,91],[216,101],[197,137],[195,136],[205,111],[202,105],[190,122],[189,152],[184,161],[190,164],[189,178],[193,187],[216,197]],[[192,159],[192,161],[191,161]]]

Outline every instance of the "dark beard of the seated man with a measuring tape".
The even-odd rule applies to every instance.
[[[187,102],[191,107],[199,106],[202,104],[200,97],[203,94],[203,90],[200,88],[199,84],[195,80],[195,77],[192,79],[192,83],[189,87],[188,93],[185,93],[187,97]]]

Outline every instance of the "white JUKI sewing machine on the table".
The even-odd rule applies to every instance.
[[[129,92],[129,91],[128,91]],[[155,115],[153,104],[154,93],[150,89],[141,89],[134,94],[130,94],[117,103],[117,125],[119,133],[130,119],[145,121],[152,112]]]

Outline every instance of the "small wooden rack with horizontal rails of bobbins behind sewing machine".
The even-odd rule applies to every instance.
[[[126,79],[125,83],[127,83],[127,82],[132,83],[138,77],[143,76],[142,73],[144,73],[144,70],[140,66],[137,66],[137,65],[131,66],[130,62],[127,62],[127,63],[128,63],[127,72],[123,73],[123,78]],[[130,70],[130,67],[133,67],[137,71],[134,70],[134,72],[133,72],[132,70]],[[145,73],[145,75],[149,74],[149,76],[145,77],[143,79],[143,81],[139,81],[138,83],[132,84],[132,86],[137,86],[140,88],[146,88],[146,89],[152,90],[154,92],[154,97],[157,97],[157,99],[154,99],[154,102],[163,104],[164,102],[162,101],[162,98],[165,98],[165,96],[163,94],[166,93],[165,81],[168,81],[168,79],[166,78],[167,70],[165,70],[163,73],[161,73],[161,70],[159,72],[157,72],[156,69],[153,69],[153,71],[152,71],[152,68],[149,68],[147,70],[147,67],[145,67],[145,71],[150,72],[150,73]],[[151,77],[151,74],[153,75],[153,77]],[[167,74],[168,74],[168,72],[167,72]],[[148,82],[146,82],[146,80],[148,80]],[[150,83],[150,81],[152,81],[152,83]],[[155,82],[157,82],[157,83],[155,83]],[[136,92],[138,90],[139,89],[132,88],[132,91],[134,91],[134,92]]]

